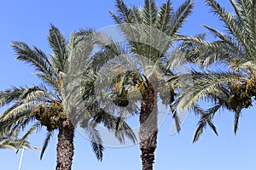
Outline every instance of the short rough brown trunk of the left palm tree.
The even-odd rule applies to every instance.
[[[69,119],[60,120],[56,170],[71,170],[73,162],[74,127]]]

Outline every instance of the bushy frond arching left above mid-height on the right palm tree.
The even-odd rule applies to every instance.
[[[212,28],[210,28],[212,30]],[[186,50],[185,57],[202,68],[207,68],[216,62],[236,65],[248,60],[241,46],[236,40],[229,37],[222,37],[220,33],[214,32],[220,38],[227,38],[224,41],[207,42],[201,37],[184,38],[183,48]]]

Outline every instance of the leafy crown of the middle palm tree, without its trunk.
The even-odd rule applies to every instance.
[[[102,34],[96,34],[96,43],[100,44],[104,49],[108,48],[108,52],[111,51],[113,54],[112,64],[108,65],[108,67],[116,68],[113,69],[113,75],[118,75],[115,78],[109,78],[109,81],[113,81],[113,84],[115,84],[115,86],[113,85],[113,92],[118,92],[113,93],[118,94],[117,96],[112,96],[113,100],[119,100],[121,96],[127,97],[125,91],[127,92],[128,89],[133,89],[133,91],[139,89],[139,94],[141,94],[144,89],[143,81],[145,81],[145,78],[151,77],[152,74],[158,79],[154,82],[159,83],[162,80],[162,84],[166,83],[163,75],[174,77],[175,74],[172,73],[170,66],[174,57],[168,50],[172,48],[173,42],[183,39],[183,36],[179,34],[179,30],[189,14],[191,14],[193,6],[194,3],[187,0],[177,8],[177,11],[174,11],[170,0],[163,3],[160,8],[157,8],[155,2],[151,0],[145,0],[143,8],[128,7],[123,1],[116,0],[117,13],[109,12],[127,43],[117,44]],[[131,63],[129,64],[127,58],[131,60],[131,63],[138,64],[130,65]],[[120,65],[119,68],[117,65]],[[124,68],[124,65],[127,68]],[[109,71],[111,69],[103,71],[105,74],[101,73],[104,76],[100,77],[106,79]],[[170,93],[172,94],[171,98],[173,98],[174,93],[172,92],[173,87],[171,88],[170,85],[171,82],[167,84],[162,86],[165,89],[161,91],[160,96],[165,104],[170,105]],[[124,86],[128,87],[124,88]],[[165,98],[166,96],[168,96],[167,99]],[[127,104],[126,102],[126,104],[122,103],[121,105]]]

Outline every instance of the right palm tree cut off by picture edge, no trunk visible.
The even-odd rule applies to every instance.
[[[187,59],[202,69],[207,68],[184,75],[193,81],[193,85],[184,88],[180,110],[192,108],[201,115],[194,141],[199,139],[207,125],[217,133],[212,118],[222,107],[235,113],[236,134],[241,110],[252,106],[256,96],[256,1],[230,0],[235,14],[226,11],[215,0],[206,2],[224,26],[224,33],[205,26],[217,38],[216,41],[192,37],[184,44]],[[216,67],[213,71],[208,69],[216,63],[223,66],[222,71]],[[199,100],[212,101],[213,106],[202,110],[197,105]]]

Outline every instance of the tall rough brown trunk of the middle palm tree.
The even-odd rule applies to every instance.
[[[154,150],[158,133],[156,96],[152,84],[148,82],[140,111],[139,138],[143,170],[152,170],[154,164]]]

